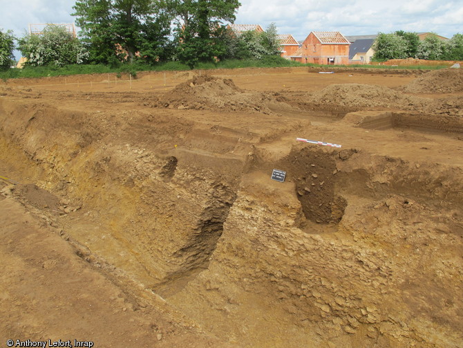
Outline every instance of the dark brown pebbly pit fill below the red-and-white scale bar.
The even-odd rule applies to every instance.
[[[290,154],[296,195],[305,218],[315,223],[339,223],[347,205],[336,192],[336,153],[305,147]]]

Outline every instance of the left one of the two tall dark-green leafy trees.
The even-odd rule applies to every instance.
[[[160,5],[153,0],[80,0],[73,15],[95,62],[133,62],[137,54],[154,61],[169,46],[169,14]]]

